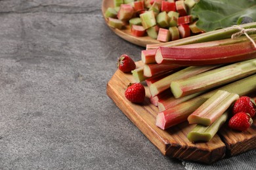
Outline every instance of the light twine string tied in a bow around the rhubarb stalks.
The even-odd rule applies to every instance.
[[[248,35],[248,32],[256,32],[256,28],[247,28],[244,29],[243,27],[240,27],[239,25],[233,25],[232,27],[228,27],[227,30],[230,29],[238,29],[239,32],[233,33],[231,36],[231,39],[236,39],[237,37],[240,37],[241,35],[246,35],[246,37],[253,43],[254,48],[256,48],[255,41]]]

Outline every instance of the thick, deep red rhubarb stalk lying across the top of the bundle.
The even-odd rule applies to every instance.
[[[203,46],[202,48],[161,46],[156,51],[156,62],[183,66],[210,65],[243,61],[245,59],[255,58],[255,54],[256,50],[251,41],[226,44],[221,46]]]

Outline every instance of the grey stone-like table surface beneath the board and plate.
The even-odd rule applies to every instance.
[[[116,59],[138,61],[143,48],[107,27],[101,3],[0,0],[0,169],[236,165],[236,157],[203,165],[163,156],[116,107],[106,95]],[[255,162],[247,154],[240,165]]]

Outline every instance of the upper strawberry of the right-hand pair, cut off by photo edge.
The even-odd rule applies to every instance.
[[[247,112],[253,118],[256,114],[256,105],[255,101],[247,96],[240,97],[235,103],[233,107],[233,114],[238,112]]]

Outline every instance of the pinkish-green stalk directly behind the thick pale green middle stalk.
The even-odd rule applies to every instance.
[[[209,71],[211,69],[217,68],[220,65],[207,65],[207,66],[191,66],[187,67],[185,69],[182,69],[181,71],[177,71],[176,73],[173,73],[172,75],[166,76],[165,78],[159,80],[158,82],[154,82],[149,87],[150,93],[152,96],[155,96],[167,88],[170,88],[171,82],[174,80],[178,80],[180,78],[188,78],[193,75],[198,75],[200,73],[203,73],[205,71]]]

